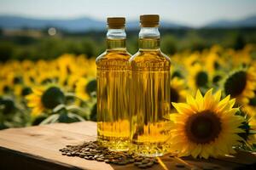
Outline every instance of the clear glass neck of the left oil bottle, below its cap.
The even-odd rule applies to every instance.
[[[107,50],[125,50],[126,45],[125,28],[108,29],[107,32]]]

